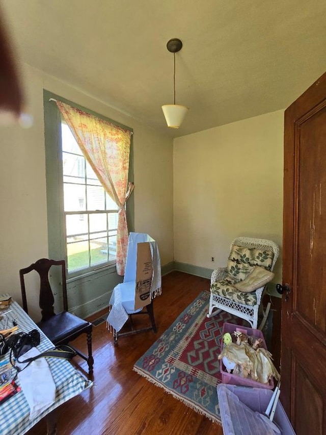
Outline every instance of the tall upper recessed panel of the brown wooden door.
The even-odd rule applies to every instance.
[[[300,127],[295,308],[325,334],[326,267],[322,264],[326,255],[326,109]],[[313,292],[307,291],[312,288]]]

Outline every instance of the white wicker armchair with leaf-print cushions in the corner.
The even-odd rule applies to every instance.
[[[215,269],[211,275],[209,311],[207,317],[212,317],[221,310],[247,320],[253,328],[257,328],[258,312],[266,283],[274,276],[270,273],[279,255],[279,247],[271,240],[238,237],[231,243],[227,267]],[[258,268],[256,266],[259,266]],[[250,291],[238,290],[245,288],[254,269],[265,270],[264,280],[256,280],[261,287]],[[263,272],[264,273],[264,272]],[[239,285],[241,284],[241,285]],[[254,286],[253,286],[254,287]],[[265,322],[270,304],[264,311],[261,306]]]

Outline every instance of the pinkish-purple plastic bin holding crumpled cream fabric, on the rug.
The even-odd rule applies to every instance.
[[[236,330],[241,330],[246,332],[249,337],[261,338],[263,340],[262,347],[267,350],[266,343],[262,332],[259,329],[247,328],[246,326],[233,325],[232,323],[224,323],[223,325],[223,335],[226,332],[235,332]],[[223,339],[221,340],[221,352],[223,349]],[[269,379],[267,384],[257,382],[256,380],[247,379],[238,375],[234,375],[232,373],[228,373],[222,360],[220,360],[220,372],[222,375],[223,383],[230,383],[231,385],[243,385],[245,387],[253,387],[253,388],[267,388],[269,390],[273,390],[274,388],[274,378]]]

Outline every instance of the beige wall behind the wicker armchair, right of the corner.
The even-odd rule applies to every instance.
[[[174,140],[175,261],[226,266],[230,243],[238,236],[271,239],[281,247],[283,113]],[[280,257],[275,282],[281,270]]]

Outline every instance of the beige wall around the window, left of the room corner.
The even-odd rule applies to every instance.
[[[1,130],[1,293],[20,301],[19,269],[48,255],[43,88],[134,129],[135,231],[157,240],[162,265],[173,261],[172,139],[28,65],[22,75],[34,124]]]

